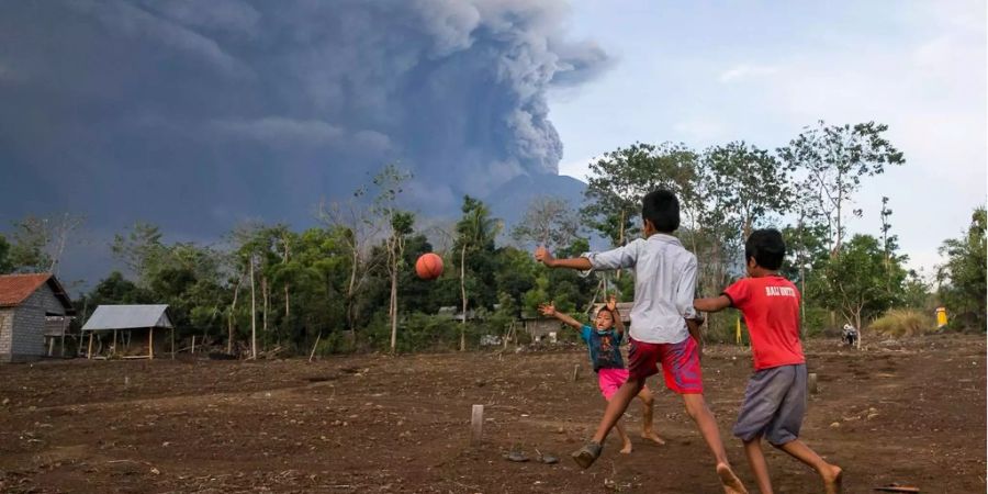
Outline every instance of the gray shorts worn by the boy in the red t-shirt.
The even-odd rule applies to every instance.
[[[799,437],[804,415],[806,364],[763,369],[748,381],[734,436],[743,441],[765,436],[772,445],[785,445]]]

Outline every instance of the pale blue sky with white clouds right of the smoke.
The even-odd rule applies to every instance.
[[[636,141],[774,149],[817,120],[876,121],[903,167],[866,179],[852,232],[877,234],[882,197],[910,266],[986,198],[986,9],[938,2],[574,2],[570,34],[615,58],[598,79],[550,92],[560,173]]]

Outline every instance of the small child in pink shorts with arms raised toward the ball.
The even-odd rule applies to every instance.
[[[573,317],[557,312],[555,306],[551,303],[542,304],[539,310],[543,315],[555,317],[574,329],[580,329],[581,336],[590,349],[591,362],[594,366],[594,372],[597,373],[597,384],[600,386],[600,393],[604,395],[604,400],[609,402],[621,384],[628,380],[628,369],[625,368],[620,351],[621,339],[625,336],[625,324],[620,314],[618,314],[617,300],[615,300],[614,295],[607,301],[607,306],[597,311],[597,316],[594,318],[595,327],[581,324]],[[654,405],[652,392],[648,386],[644,386],[638,393],[638,397],[641,398],[642,408],[641,437],[656,445],[664,445],[665,441],[652,429],[652,407]],[[625,427],[618,422],[616,428],[624,445],[621,452],[630,453],[631,439],[625,431]]]

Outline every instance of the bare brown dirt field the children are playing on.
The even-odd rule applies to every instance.
[[[588,470],[569,458],[603,398],[580,349],[503,355],[361,356],[236,362],[44,361],[0,366],[2,492],[649,492],[718,493],[711,458],[677,396],[658,393],[655,426],[626,416]],[[845,492],[912,484],[986,491],[984,337],[807,345],[819,375],[802,438],[845,470]],[[574,382],[573,369],[580,366]],[[728,453],[753,489],[730,427],[751,360],[708,348],[706,396]],[[650,381],[653,389],[658,381]],[[471,447],[471,405],[484,405]],[[771,448],[770,448],[771,449]],[[520,450],[532,461],[509,462]],[[558,464],[535,460],[541,452]],[[820,492],[809,469],[766,451],[777,492]]]

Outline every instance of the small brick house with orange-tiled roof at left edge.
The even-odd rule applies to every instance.
[[[65,336],[72,302],[52,273],[0,276],[0,362],[52,356]]]

